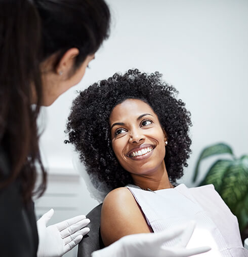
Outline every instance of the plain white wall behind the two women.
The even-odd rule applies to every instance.
[[[75,172],[71,148],[63,143],[75,91],[133,67],[160,71],[179,90],[192,114],[193,154],[182,179],[186,185],[191,185],[195,161],[204,146],[224,141],[237,156],[248,154],[248,1],[107,2],[112,13],[110,38],[84,79],[44,108],[46,126],[40,147],[46,166]],[[86,213],[97,203],[87,192],[82,196],[88,204],[82,207]]]

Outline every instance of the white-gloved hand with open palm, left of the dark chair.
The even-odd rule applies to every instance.
[[[37,221],[39,245],[37,257],[59,257],[76,246],[90,229],[85,228],[90,219],[85,215],[75,216],[66,221],[47,227],[54,210],[46,212]]]

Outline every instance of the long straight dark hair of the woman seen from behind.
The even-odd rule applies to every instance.
[[[9,167],[0,167],[0,190],[19,179],[23,199],[30,200],[39,167],[36,193],[45,191],[36,125],[43,102],[40,63],[55,55],[55,70],[75,47],[76,69],[108,37],[109,23],[104,0],[0,0],[0,146],[9,160]]]

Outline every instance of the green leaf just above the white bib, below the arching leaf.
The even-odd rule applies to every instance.
[[[199,186],[213,184],[215,186],[215,190],[220,193],[223,183],[223,176],[231,163],[232,160],[216,161],[210,168],[209,172],[205,175]]]

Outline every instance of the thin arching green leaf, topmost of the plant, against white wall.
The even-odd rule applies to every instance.
[[[201,160],[213,156],[213,155],[219,155],[219,154],[231,154],[232,153],[232,149],[230,148],[229,145],[225,144],[225,143],[217,143],[211,146],[208,146],[206,148],[204,148],[198,158],[198,161],[196,163],[196,167],[194,170],[194,176],[193,176],[193,182],[195,182],[198,172],[199,172],[199,165]]]

